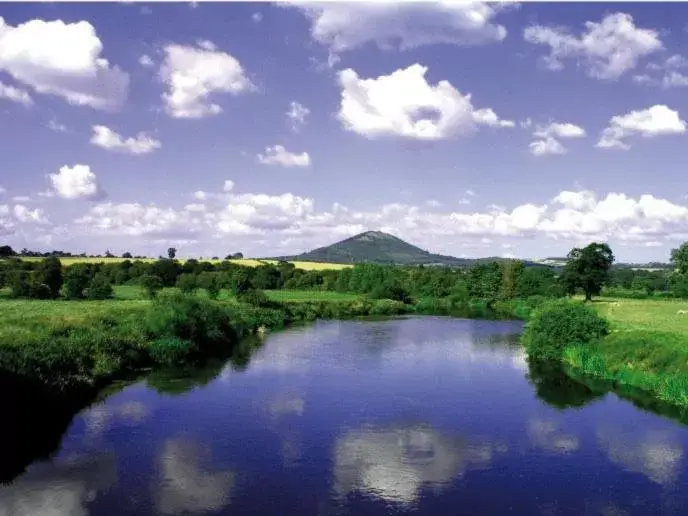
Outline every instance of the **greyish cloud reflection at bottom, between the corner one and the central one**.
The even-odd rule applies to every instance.
[[[231,471],[205,471],[209,450],[181,438],[168,439],[159,458],[156,507],[161,514],[217,511],[230,502]]]

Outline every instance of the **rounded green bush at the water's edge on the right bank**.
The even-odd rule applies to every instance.
[[[609,324],[594,308],[578,301],[558,299],[537,308],[522,336],[528,356],[561,360],[564,348],[587,344],[609,333]]]

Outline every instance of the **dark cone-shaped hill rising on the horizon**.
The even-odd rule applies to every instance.
[[[366,231],[332,245],[313,249],[307,253],[296,256],[279,256],[272,259],[303,262],[378,263],[450,267],[465,267],[477,262],[504,260],[504,258],[498,257],[470,259],[434,254],[382,231]]]

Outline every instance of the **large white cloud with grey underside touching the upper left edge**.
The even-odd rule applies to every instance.
[[[70,104],[114,110],[126,100],[129,76],[102,50],[87,21],[30,20],[14,27],[0,17],[0,71]]]

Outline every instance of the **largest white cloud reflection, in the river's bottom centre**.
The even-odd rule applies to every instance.
[[[335,444],[334,491],[363,491],[413,503],[423,486],[440,491],[452,478],[492,460],[494,447],[448,437],[425,425],[363,428]]]

